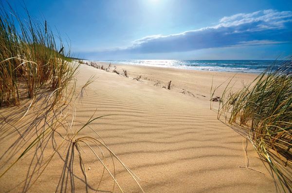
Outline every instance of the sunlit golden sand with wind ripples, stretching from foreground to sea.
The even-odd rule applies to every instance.
[[[76,102],[76,121],[86,122],[96,110],[94,117],[113,114],[97,119],[91,127],[143,180],[140,184],[145,192],[275,192],[273,179],[251,144],[247,145],[247,154],[249,167],[254,170],[239,167],[246,164],[245,139],[217,120],[217,112],[210,110],[212,77],[214,86],[218,86],[234,73],[117,65],[118,72],[128,71],[130,78],[125,78],[111,73],[113,67],[110,69],[106,72],[81,65],[77,85],[85,84],[91,75],[98,78],[89,85],[83,99]],[[132,80],[139,75],[143,82]],[[255,77],[237,74],[235,90],[242,87],[241,81],[251,82]],[[161,87],[153,85],[157,80]],[[162,88],[169,80],[171,90]],[[220,96],[224,85],[215,96]],[[195,97],[183,95],[182,89]],[[4,144],[1,155],[8,145]],[[55,157],[53,161],[29,192],[56,190],[63,163]],[[87,170],[89,192],[93,192],[101,177],[102,167],[97,162],[93,157],[86,161],[86,168],[91,167]],[[28,164],[29,161],[22,160],[19,165],[23,167],[0,179],[1,192],[14,188],[20,178],[25,178],[24,166]],[[76,176],[82,178],[78,174],[80,171],[76,170]],[[117,180],[125,192],[139,192],[129,174],[118,166]],[[75,180],[76,192],[85,192],[84,187],[81,180]],[[99,191],[111,188],[112,180],[105,177]],[[12,192],[22,190],[18,186]]]

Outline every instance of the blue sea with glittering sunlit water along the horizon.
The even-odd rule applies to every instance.
[[[283,63],[273,60],[96,60],[96,62],[246,73],[261,73],[272,64],[277,68]]]

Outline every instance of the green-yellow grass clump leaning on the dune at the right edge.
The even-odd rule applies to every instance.
[[[224,94],[223,94],[224,95]],[[224,98],[223,96],[221,98]],[[221,100],[219,113],[248,133],[284,192],[292,188],[292,62],[261,73],[251,84]],[[272,174],[273,175],[273,174]]]

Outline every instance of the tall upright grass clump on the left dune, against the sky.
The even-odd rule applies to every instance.
[[[49,87],[61,96],[63,88],[73,79],[77,65],[70,65],[70,51],[55,36],[47,22],[21,19],[12,9],[0,4],[0,106],[18,105],[26,91],[30,98],[39,89]]]

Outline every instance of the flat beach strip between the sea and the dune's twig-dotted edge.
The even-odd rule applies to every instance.
[[[103,65],[107,68],[110,63],[99,62],[96,63]],[[90,63],[87,64],[90,66]],[[193,69],[178,69],[168,67],[156,67],[156,66],[143,66],[132,64],[111,64],[111,69],[122,73],[123,70],[127,70],[131,79],[141,76],[141,80],[148,85],[153,86],[157,82],[161,82],[160,87],[166,86],[167,82],[172,81],[171,91],[178,93],[184,90],[191,93],[196,93],[201,96],[206,96],[205,101],[209,101],[210,88],[213,81],[213,86],[222,85],[217,89],[215,95],[221,96],[228,81],[234,84],[234,91],[242,88],[242,82],[251,83],[258,76],[254,73],[235,73],[235,72],[221,72],[221,71],[208,71],[208,70],[193,70]],[[110,70],[111,72],[112,70]],[[181,76],[183,74],[183,76]],[[227,81],[228,80],[228,81]]]

